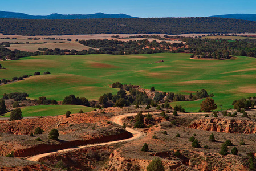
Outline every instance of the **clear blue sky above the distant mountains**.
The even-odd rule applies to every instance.
[[[124,13],[135,17],[208,17],[220,14],[256,14],[255,0],[8,0],[1,11],[30,15]]]

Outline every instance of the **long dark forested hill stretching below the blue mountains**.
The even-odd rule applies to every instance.
[[[186,34],[256,32],[256,22],[229,18],[105,18],[105,19],[7,19],[0,18],[5,35],[67,34]]]

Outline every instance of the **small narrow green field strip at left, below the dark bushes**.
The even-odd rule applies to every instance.
[[[90,112],[94,110],[94,108],[82,105],[36,105],[21,108],[23,117],[64,115],[67,111],[70,111],[71,113],[78,113],[80,109],[82,109],[83,112]],[[11,112],[8,112],[6,115],[1,117],[10,117],[10,113]]]

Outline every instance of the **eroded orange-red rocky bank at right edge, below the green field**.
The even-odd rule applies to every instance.
[[[256,133],[256,124],[250,120],[212,118],[196,120],[189,128],[226,133]]]

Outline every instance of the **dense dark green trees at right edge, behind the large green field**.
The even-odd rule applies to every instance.
[[[192,52],[191,58],[213,58],[213,59],[230,59],[230,55],[255,57],[256,40],[243,39],[195,39],[183,38],[186,41],[189,50]]]

